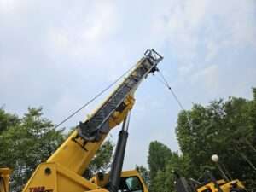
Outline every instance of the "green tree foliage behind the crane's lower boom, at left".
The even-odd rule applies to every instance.
[[[47,160],[67,136],[43,117],[42,108],[28,108],[21,118],[0,108],[0,167],[13,170],[11,190],[20,191],[36,166]],[[103,143],[90,163],[89,172],[106,170],[112,151],[113,143]]]

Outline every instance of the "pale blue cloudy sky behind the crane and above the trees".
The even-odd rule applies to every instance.
[[[0,0],[0,105],[17,114],[43,106],[57,124],[150,48],[164,55],[160,70],[185,108],[250,99],[255,37],[254,0]],[[64,126],[77,125],[103,98]],[[136,99],[126,169],[147,164],[151,141],[178,150],[180,108],[168,90],[152,76]]]

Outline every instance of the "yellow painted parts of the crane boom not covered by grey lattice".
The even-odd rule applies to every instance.
[[[119,123],[125,119],[125,116],[131,110],[134,104],[134,99],[129,96],[125,100],[125,104],[127,107],[123,112],[114,113],[114,115],[109,119],[110,128],[119,125]],[[98,142],[84,142],[84,139],[78,137],[78,131],[75,130],[67,138],[67,140],[61,144],[55,153],[49,157],[47,162],[55,162],[72,172],[76,172],[77,174],[82,175],[90,164],[90,160],[96,154],[98,148],[101,147],[101,144],[107,135],[108,134],[103,135]]]

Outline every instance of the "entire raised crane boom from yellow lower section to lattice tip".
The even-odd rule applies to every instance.
[[[134,104],[133,94],[138,84],[157,69],[156,66],[162,59],[163,57],[154,49],[147,50],[143,58],[137,62],[136,67],[108,96],[108,99],[89,119],[78,125],[78,128],[49,157],[47,162],[55,162],[79,175],[83,174],[107,137],[108,131],[119,125],[131,110]]]

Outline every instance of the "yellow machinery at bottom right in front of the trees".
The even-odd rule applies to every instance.
[[[205,181],[200,183],[195,179],[180,177],[175,172],[175,189],[177,192],[246,192],[245,186],[238,179],[226,181],[216,180],[211,172],[206,172]]]

